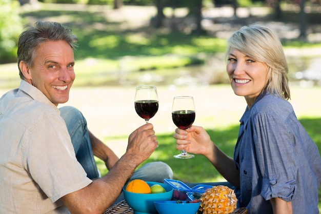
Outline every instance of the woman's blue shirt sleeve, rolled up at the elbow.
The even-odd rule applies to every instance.
[[[269,113],[254,117],[255,152],[263,177],[260,194],[265,200],[278,197],[291,201],[296,193],[298,163],[293,150],[295,142],[285,120]]]

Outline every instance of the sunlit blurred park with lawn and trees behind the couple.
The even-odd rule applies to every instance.
[[[145,123],[134,110],[135,87],[156,85],[159,110],[150,123],[159,147],[144,163],[164,161],[172,167],[174,179],[184,182],[224,181],[204,157],[173,158],[179,151],[172,137],[172,99],[192,95],[194,125],[205,127],[213,142],[232,156],[246,102],[227,84],[225,42],[241,26],[260,23],[275,30],[283,42],[290,67],[290,102],[321,150],[319,2],[305,1],[302,14],[302,4],[294,1],[276,1],[278,12],[271,1],[237,1],[242,2],[237,8],[233,1],[194,1],[202,2],[200,29],[193,12],[196,6],[184,6],[182,1],[170,5],[163,0],[160,26],[154,4],[162,1],[88,2],[0,0],[0,40],[6,41],[0,43],[0,96],[19,85],[14,43],[23,26],[37,20],[61,22],[79,37],[76,80],[63,105],[80,109],[89,129],[121,157],[128,135]],[[96,161],[105,174],[103,162]]]

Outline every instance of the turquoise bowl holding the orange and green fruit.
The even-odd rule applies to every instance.
[[[134,193],[126,191],[127,184],[123,187],[124,198],[133,209],[134,214],[157,214],[154,201],[169,201],[172,198],[173,188],[158,182],[146,182],[149,186],[159,184],[166,192],[163,193]],[[194,213],[195,214],[195,213]]]

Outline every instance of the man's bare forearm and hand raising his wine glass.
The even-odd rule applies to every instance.
[[[69,211],[77,214],[103,213],[117,199],[135,168],[149,158],[157,147],[154,134],[153,125],[150,123],[132,132],[126,153],[106,176],[62,197]]]

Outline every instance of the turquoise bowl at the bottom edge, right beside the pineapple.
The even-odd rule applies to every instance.
[[[200,202],[186,203],[187,201],[155,201],[155,207],[159,214],[195,214],[199,208]]]

